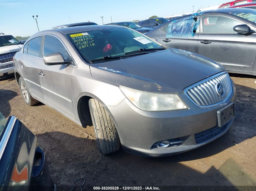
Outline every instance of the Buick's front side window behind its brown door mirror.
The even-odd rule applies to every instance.
[[[45,36],[43,56],[47,56],[56,52],[61,53],[64,60],[70,59],[67,50],[60,40],[53,36]]]

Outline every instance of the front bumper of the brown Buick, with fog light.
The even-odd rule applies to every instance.
[[[225,103],[199,108],[185,94],[179,94],[188,105],[187,110],[148,112],[135,107],[125,99],[117,106],[107,107],[116,125],[122,147],[125,151],[141,156],[168,156],[198,148],[227,132],[234,118],[218,128],[217,111],[229,103],[236,103],[236,91],[233,90]],[[198,141],[198,136],[207,132],[212,136]],[[181,144],[167,148],[154,148],[162,140],[180,140]]]

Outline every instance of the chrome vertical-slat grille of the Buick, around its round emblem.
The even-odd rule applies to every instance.
[[[224,95],[218,96],[216,84],[222,84]],[[185,89],[185,94],[199,107],[211,107],[225,101],[231,94],[232,84],[227,72],[211,76]]]

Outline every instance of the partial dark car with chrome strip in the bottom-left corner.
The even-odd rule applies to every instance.
[[[2,113],[0,169],[1,190],[24,189],[26,186],[30,186],[30,190],[56,190],[37,137],[15,116],[10,116],[6,121]]]

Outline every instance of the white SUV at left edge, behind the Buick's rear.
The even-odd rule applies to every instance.
[[[0,77],[14,73],[12,57],[22,47],[22,44],[12,35],[0,33]]]

